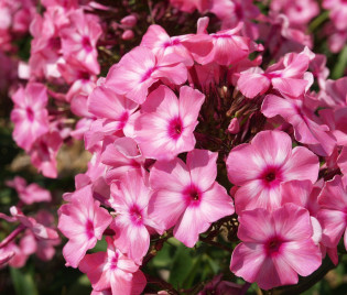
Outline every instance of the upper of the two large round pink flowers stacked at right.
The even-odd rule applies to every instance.
[[[318,157],[303,146],[292,151],[291,138],[281,131],[259,132],[251,143],[234,148],[227,159],[228,177],[240,186],[236,192],[236,211],[281,206],[280,184],[318,176]]]

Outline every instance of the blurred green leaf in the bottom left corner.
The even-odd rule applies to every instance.
[[[17,295],[39,295],[30,272],[10,267],[10,273]]]

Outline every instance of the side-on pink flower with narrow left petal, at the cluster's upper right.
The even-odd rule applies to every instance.
[[[264,94],[271,85],[282,95],[297,98],[313,84],[313,75],[306,72],[313,57],[307,47],[299,54],[289,53],[264,73],[241,73],[237,85],[248,98]]]

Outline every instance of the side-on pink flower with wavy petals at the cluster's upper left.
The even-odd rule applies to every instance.
[[[183,61],[175,53],[154,54],[150,48],[138,46],[110,68],[105,85],[141,105],[155,81],[176,85],[186,81],[187,69]]]

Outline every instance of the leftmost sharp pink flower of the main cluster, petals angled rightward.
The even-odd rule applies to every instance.
[[[58,229],[68,238],[63,249],[66,264],[77,267],[88,249],[102,238],[112,218],[93,199],[91,185],[76,190],[59,209]]]

